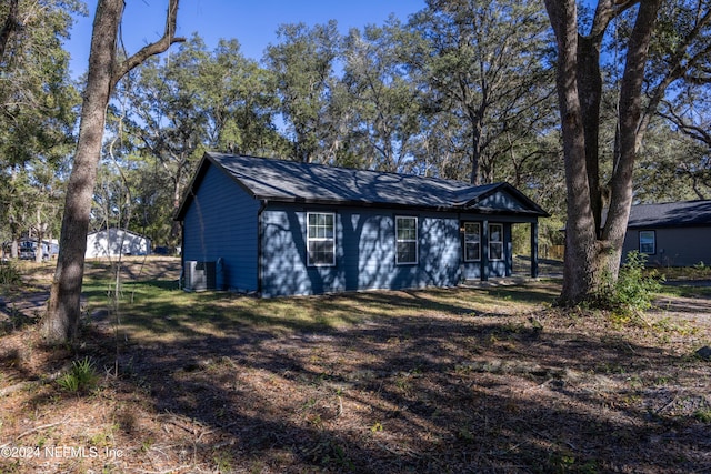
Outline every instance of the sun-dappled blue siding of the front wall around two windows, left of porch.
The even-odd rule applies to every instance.
[[[336,265],[308,266],[307,212],[336,214]],[[418,218],[418,263],[395,264],[398,215]],[[461,280],[455,214],[270,205],[262,214],[262,294],[452,286]]]

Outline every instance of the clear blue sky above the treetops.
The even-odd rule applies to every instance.
[[[73,77],[81,75],[89,61],[97,0],[86,2],[89,16],[77,19],[66,43]],[[168,0],[126,1],[122,33],[129,54],[162,36]],[[259,61],[267,46],[277,42],[277,28],[283,23],[312,27],[336,20],[346,33],[350,28],[382,26],[391,13],[407,21],[423,8],[424,0],[180,0],[177,36],[198,32],[209,49],[221,38],[236,38],[242,54]]]

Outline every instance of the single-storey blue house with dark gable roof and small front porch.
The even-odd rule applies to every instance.
[[[281,296],[507,276],[513,223],[535,276],[547,215],[507,183],[206,153],[176,220],[186,289]]]

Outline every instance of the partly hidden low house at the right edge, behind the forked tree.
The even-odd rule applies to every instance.
[[[710,265],[711,201],[633,205],[622,255],[633,250],[648,265]]]

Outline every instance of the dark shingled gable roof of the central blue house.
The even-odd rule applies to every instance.
[[[475,210],[549,215],[508,183],[473,186],[461,181],[208,152],[177,218],[181,220],[209,165],[230,175],[258,200],[365,206]],[[495,199],[504,192],[505,203]]]

